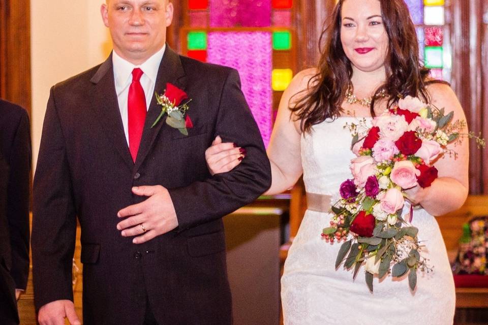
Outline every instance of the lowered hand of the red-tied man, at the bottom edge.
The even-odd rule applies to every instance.
[[[71,325],[81,325],[71,300],[52,301],[39,309],[38,319],[41,325],[64,325],[65,318],[68,318]]]

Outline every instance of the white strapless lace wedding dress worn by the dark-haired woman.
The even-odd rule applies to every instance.
[[[343,126],[353,122],[340,117],[313,127],[301,139],[303,180],[307,192],[339,196],[340,184],[352,178],[349,163],[351,134]],[[335,200],[332,200],[335,202]],[[406,207],[405,210],[409,208]],[[290,248],[281,279],[282,304],[287,325],[450,325],[455,309],[455,291],[446,248],[439,226],[423,209],[414,210],[412,224],[419,240],[426,240],[423,256],[433,272],[417,272],[417,288],[408,279],[380,283],[375,277],[370,293],[361,267],[355,280],[342,266],[335,270],[340,244],[320,236],[331,215],[307,210]]]

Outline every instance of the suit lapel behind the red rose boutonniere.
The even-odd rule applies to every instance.
[[[179,55],[166,45],[166,50],[158,70],[158,77],[154,88],[155,92],[158,92],[159,94],[163,93],[166,89],[166,83],[168,82],[183,90],[186,87],[185,71],[181,66]],[[144,131],[142,133],[141,144],[137,153],[134,170],[138,170],[143,163],[161,128],[171,128],[166,124],[164,117],[158,124],[151,128],[151,125],[153,125],[160,113],[161,107],[157,104],[155,96],[153,96],[151,104],[149,105],[149,110],[147,111]]]

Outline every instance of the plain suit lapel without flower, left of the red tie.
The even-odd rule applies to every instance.
[[[103,132],[113,143],[114,148],[122,157],[124,163],[132,171],[134,163],[129,146],[127,145],[124,125],[118,108],[113,79],[112,55],[101,64],[97,73],[90,81],[95,84],[93,94],[90,96],[92,109],[98,115],[98,120],[102,123]]]

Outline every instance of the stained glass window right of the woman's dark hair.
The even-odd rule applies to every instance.
[[[405,0],[416,25],[420,58],[431,68],[431,77],[450,81],[451,47],[445,21],[444,0]]]

